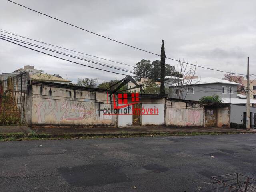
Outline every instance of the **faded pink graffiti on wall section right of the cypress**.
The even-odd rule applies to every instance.
[[[202,122],[202,110],[169,109],[168,122],[176,125],[200,125]]]

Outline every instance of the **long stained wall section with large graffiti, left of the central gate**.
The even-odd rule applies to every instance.
[[[31,126],[115,126],[116,115],[98,114],[107,104],[107,93],[72,89],[72,86],[32,83],[28,97],[28,124]],[[30,114],[31,112],[31,114]]]

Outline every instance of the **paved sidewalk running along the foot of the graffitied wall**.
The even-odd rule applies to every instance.
[[[150,134],[150,133],[253,133],[242,129],[204,128],[204,127],[166,127],[166,126],[128,126],[128,127],[95,127],[95,128],[30,128],[28,126],[0,126],[0,134]]]

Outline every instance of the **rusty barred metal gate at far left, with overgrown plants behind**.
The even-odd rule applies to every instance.
[[[22,121],[26,92],[4,90],[0,82],[0,125],[17,124]]]

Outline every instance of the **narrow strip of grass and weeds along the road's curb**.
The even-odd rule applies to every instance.
[[[154,136],[193,136],[193,135],[222,135],[239,134],[239,132],[176,132],[176,133],[128,133],[117,134],[36,134],[32,131],[25,133],[0,134],[0,141],[49,140],[49,139],[88,139],[88,138],[128,138],[128,137],[154,137]]]

